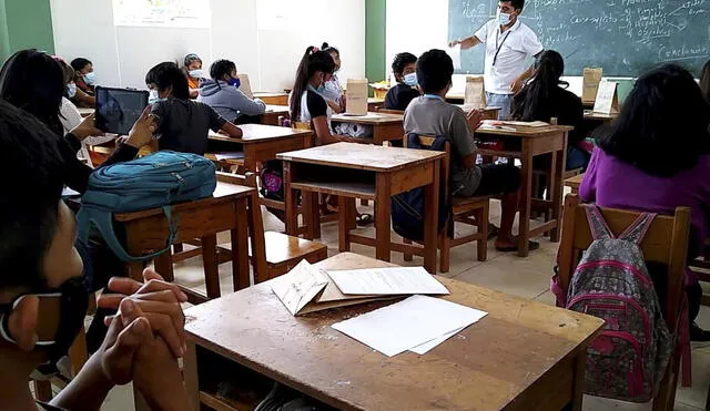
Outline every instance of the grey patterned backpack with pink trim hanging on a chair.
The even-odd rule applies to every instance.
[[[594,242],[575,269],[565,300],[570,310],[605,320],[587,350],[585,393],[631,402],[655,398],[672,339],[640,244],[656,214],[641,214],[618,238],[601,212],[584,205]]]

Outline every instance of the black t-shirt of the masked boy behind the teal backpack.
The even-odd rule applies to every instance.
[[[160,150],[181,153],[204,155],[210,130],[217,132],[226,123],[211,106],[191,100],[159,101],[151,112],[158,116]]]

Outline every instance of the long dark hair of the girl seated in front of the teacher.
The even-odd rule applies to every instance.
[[[535,75],[513,99],[513,119],[532,121],[540,113],[547,117],[550,95],[559,85],[569,86],[559,80],[564,72],[562,56],[555,50],[544,51],[535,61]]]

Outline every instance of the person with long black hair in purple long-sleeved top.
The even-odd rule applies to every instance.
[[[708,104],[688,71],[667,64],[646,73],[616,122],[598,140],[579,187],[580,198],[601,207],[665,215],[673,215],[676,207],[690,207],[688,257],[694,259],[710,235],[709,126]],[[702,289],[688,273],[686,294],[692,322]],[[690,339],[708,341],[710,332],[692,323]]]

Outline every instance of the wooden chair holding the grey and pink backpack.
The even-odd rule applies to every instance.
[[[638,213],[602,209],[605,219],[615,234],[622,233],[637,217]],[[680,366],[681,347],[679,343],[683,304],[683,284],[688,255],[688,235],[690,227],[690,209],[676,208],[674,216],[658,216],[651,224],[641,250],[648,261],[657,261],[668,266],[668,280],[665,304],[661,307],[668,328],[676,338],[676,349],[661,381],[658,395],[653,400],[653,410],[672,410],[676,399],[676,384]],[[581,253],[592,243],[591,232],[585,209],[579,197],[570,194],[565,199],[562,223],[562,240],[559,248],[559,280],[565,292],[569,287],[571,275],[581,259]],[[663,298],[661,298],[663,300]]]

